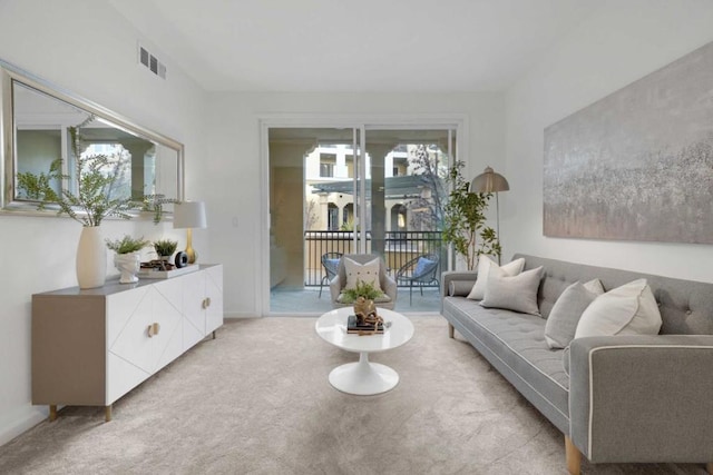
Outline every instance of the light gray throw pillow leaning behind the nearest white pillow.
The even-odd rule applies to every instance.
[[[575,338],[584,310],[604,294],[599,279],[586,284],[576,281],[561,293],[545,324],[545,340],[550,348],[565,348]]]

